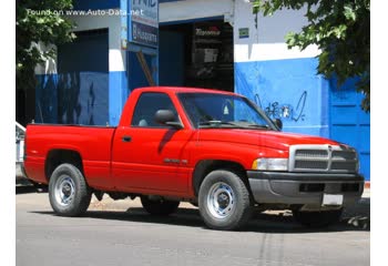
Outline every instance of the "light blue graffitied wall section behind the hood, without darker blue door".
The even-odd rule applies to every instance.
[[[235,91],[282,119],[285,132],[329,136],[329,82],[316,66],[316,59],[235,63]]]

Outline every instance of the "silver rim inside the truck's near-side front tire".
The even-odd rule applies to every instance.
[[[215,183],[207,194],[207,208],[218,219],[228,217],[235,208],[235,195],[229,185]]]

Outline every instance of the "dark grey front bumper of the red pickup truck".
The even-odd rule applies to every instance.
[[[323,205],[325,194],[343,195],[341,205],[358,201],[364,192],[359,174],[323,174],[247,171],[251,190],[259,204]]]

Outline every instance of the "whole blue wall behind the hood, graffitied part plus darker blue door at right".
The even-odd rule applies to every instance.
[[[370,115],[361,111],[356,80],[341,88],[316,74],[317,59],[235,63],[235,91],[282,119],[285,132],[329,137],[354,146],[370,180]]]

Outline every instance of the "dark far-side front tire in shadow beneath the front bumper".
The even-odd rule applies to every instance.
[[[343,208],[323,212],[300,212],[293,211],[293,216],[296,222],[307,227],[327,227],[340,221]]]

